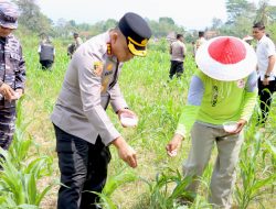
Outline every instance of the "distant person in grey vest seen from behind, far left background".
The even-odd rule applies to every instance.
[[[55,48],[49,37],[40,44],[38,52],[42,69],[51,69],[54,63]]]

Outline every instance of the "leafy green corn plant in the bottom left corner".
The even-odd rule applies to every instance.
[[[14,202],[17,208],[22,208],[24,205],[39,207],[45,194],[53,186],[49,185],[41,191],[38,189],[38,179],[51,174],[49,168],[52,164],[52,158],[38,157],[31,161],[26,167],[18,169],[7,151],[0,150],[0,154],[3,156],[0,161],[0,165],[3,168],[0,174],[0,194],[1,196],[11,197],[3,200],[2,206]],[[0,205],[0,208],[3,207]]]

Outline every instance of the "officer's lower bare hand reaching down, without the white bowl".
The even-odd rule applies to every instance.
[[[118,150],[119,157],[125,161],[130,167],[137,167],[136,152],[127,144],[124,138],[119,136],[112,142]]]

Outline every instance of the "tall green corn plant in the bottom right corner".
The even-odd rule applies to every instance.
[[[235,190],[236,201],[241,209],[247,208],[253,200],[257,200],[261,196],[269,194],[267,188],[274,185],[276,180],[275,164],[274,167],[259,166],[259,160],[262,160],[263,153],[262,148],[265,144],[262,138],[263,135],[257,132],[254,138],[251,139],[251,142],[245,143],[241,153],[243,158],[240,162],[242,185],[237,184]],[[267,151],[269,152],[269,150]],[[263,167],[261,174],[259,167]]]

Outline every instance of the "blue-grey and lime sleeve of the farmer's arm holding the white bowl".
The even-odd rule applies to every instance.
[[[241,119],[248,121],[257,102],[257,73],[253,72],[246,81]]]

